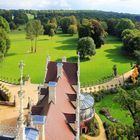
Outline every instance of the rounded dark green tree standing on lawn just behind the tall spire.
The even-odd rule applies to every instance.
[[[91,37],[83,37],[79,39],[77,51],[80,53],[81,59],[95,55],[94,40]]]

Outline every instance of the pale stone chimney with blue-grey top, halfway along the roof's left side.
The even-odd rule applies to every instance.
[[[56,82],[49,82],[48,87],[49,87],[49,103],[53,101],[53,103],[56,103]]]

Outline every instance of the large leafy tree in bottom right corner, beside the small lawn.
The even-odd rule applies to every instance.
[[[118,95],[115,98],[124,109],[127,109],[131,117],[134,120],[134,132],[135,137],[139,137],[140,140],[140,94],[139,91],[131,91],[128,93],[124,89],[120,89]]]

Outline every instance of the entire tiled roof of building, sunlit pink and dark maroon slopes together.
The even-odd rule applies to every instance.
[[[63,76],[57,79],[57,63],[49,62],[46,83],[50,81],[57,82],[56,103],[48,102],[49,90],[42,88],[44,97],[32,108],[32,114],[46,112],[46,140],[73,140],[75,129],[70,124],[75,122],[76,111],[70,101],[76,100],[72,85],[77,85],[77,64],[63,62]]]

